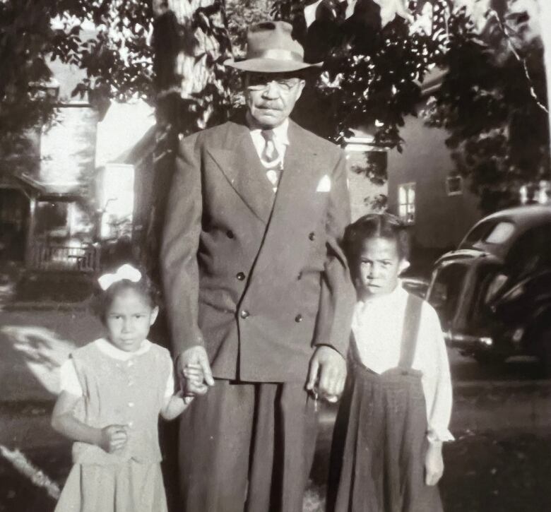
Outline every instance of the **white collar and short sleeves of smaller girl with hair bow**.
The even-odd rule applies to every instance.
[[[92,343],[94,343],[97,349],[105,355],[111,357],[112,359],[127,362],[127,364],[132,364],[132,359],[134,357],[145,354],[148,352],[151,345],[153,345],[153,343],[149,340],[143,340],[136,352],[126,352],[126,350],[120,350],[115,347],[112,343],[105,340],[105,338],[100,338]],[[167,375],[168,379],[167,387],[165,388],[165,398],[170,398],[174,394],[174,370],[172,368],[172,363],[170,364],[170,368],[167,368]],[[61,391],[66,391],[74,396],[83,395],[83,389],[81,387],[81,383],[78,381],[73,359],[67,359],[64,364],[61,364],[61,368],[59,369],[59,381]]]

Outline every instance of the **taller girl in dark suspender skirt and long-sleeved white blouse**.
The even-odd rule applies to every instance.
[[[442,442],[453,439],[451,380],[436,312],[408,294],[408,236],[389,214],[344,237],[358,302],[331,453],[328,510],[440,512]]]

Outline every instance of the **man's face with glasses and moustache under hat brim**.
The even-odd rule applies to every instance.
[[[263,129],[275,128],[287,119],[304,88],[304,80],[290,73],[246,73],[247,107]]]

